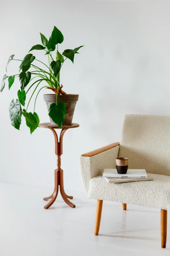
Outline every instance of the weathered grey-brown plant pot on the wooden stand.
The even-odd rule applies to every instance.
[[[50,104],[56,103],[56,95],[55,94],[44,94],[44,100],[47,105],[47,109],[49,110]],[[71,125],[74,115],[74,110],[76,107],[76,103],[78,101],[78,94],[65,94],[58,95],[57,102],[64,101],[65,102],[65,119],[63,125]],[[51,125],[56,125],[52,119],[50,118]]]

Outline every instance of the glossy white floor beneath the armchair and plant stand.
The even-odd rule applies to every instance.
[[[66,192],[74,196],[76,208],[59,194],[45,210],[42,198],[52,189],[0,182],[0,255],[170,255],[170,232],[161,249],[160,210],[127,205],[123,211],[120,203],[104,201],[99,235],[94,236],[96,200]]]

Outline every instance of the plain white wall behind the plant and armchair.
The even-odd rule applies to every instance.
[[[83,191],[79,155],[120,141],[124,114],[170,114],[170,2],[169,1],[27,1],[0,3],[0,77],[8,57],[23,59],[49,38],[53,26],[64,35],[64,49],[85,45],[74,65],[64,62],[61,83],[67,93],[79,94],[74,122],[79,128],[64,135],[65,189]],[[33,52],[47,61],[42,51]],[[12,61],[7,75],[18,72]],[[9,103],[20,88],[15,80],[0,94],[0,180],[53,187],[56,156],[50,130],[37,128],[30,135],[10,125]],[[36,112],[49,122],[44,92]],[[30,104],[29,111],[33,111]]]

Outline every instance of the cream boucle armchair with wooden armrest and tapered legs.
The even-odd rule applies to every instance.
[[[146,169],[153,180],[109,184],[102,173],[116,168],[117,157],[128,157],[129,168]],[[170,210],[170,116],[125,115],[121,143],[80,156],[85,193],[97,199],[94,234],[98,235],[103,200],[161,209],[161,246],[166,247]]]

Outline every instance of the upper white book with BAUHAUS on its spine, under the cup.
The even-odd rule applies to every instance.
[[[145,169],[128,169],[126,174],[119,174],[117,169],[105,169],[103,178],[147,178]]]

